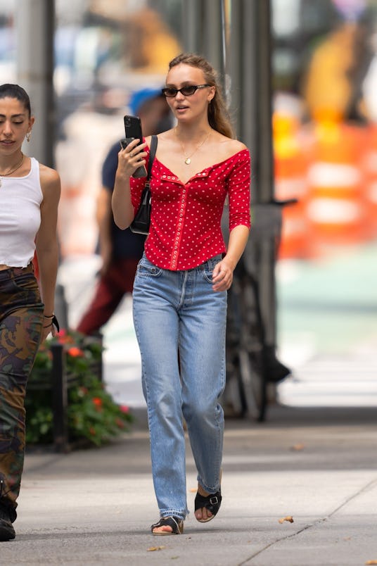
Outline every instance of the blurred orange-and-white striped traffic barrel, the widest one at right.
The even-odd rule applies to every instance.
[[[317,256],[366,239],[368,213],[361,166],[363,130],[330,122],[320,123],[314,132],[306,213],[312,255]]]

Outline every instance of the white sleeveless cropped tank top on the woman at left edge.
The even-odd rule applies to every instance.
[[[25,177],[1,177],[0,264],[11,268],[25,268],[30,263],[41,224],[39,163],[34,157],[30,161]]]

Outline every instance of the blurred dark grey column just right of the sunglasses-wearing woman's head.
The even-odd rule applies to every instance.
[[[257,275],[267,344],[276,343],[276,238],[280,208],[274,205],[271,128],[271,7],[269,0],[231,3],[231,114],[238,139],[251,153],[253,227],[243,256]]]

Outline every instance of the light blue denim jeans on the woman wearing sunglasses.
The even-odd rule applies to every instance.
[[[220,485],[227,294],[212,291],[219,260],[216,256],[195,269],[170,271],[143,256],[136,271],[134,327],[162,517],[184,519],[188,514],[183,419],[198,482],[208,493],[216,493]]]

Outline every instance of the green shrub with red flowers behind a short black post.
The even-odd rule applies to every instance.
[[[62,344],[68,388],[68,431],[70,441],[87,439],[101,446],[133,421],[126,405],[118,405],[98,377],[101,367],[100,341],[79,332],[60,331],[41,345],[30,375],[25,399],[26,442],[53,442],[52,353],[53,344]]]

